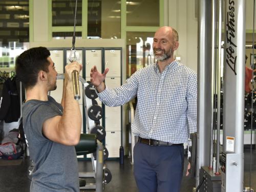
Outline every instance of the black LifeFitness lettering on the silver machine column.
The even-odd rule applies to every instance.
[[[227,11],[227,30],[226,30],[226,38],[228,47],[226,48],[226,62],[230,69],[234,72],[234,75],[237,75],[236,72],[236,64],[237,64],[237,55],[235,53],[235,49],[237,45],[234,44],[234,39],[236,38],[236,30],[235,30],[235,23],[236,20],[234,18],[234,1],[229,0],[229,6]]]

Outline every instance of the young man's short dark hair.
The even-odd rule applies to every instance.
[[[31,48],[16,58],[15,71],[17,79],[24,83],[25,88],[35,86],[40,70],[49,72],[50,62],[47,58],[50,51],[45,47]]]

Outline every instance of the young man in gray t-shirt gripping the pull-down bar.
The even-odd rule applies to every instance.
[[[16,75],[26,88],[23,125],[30,158],[35,167],[30,191],[79,191],[74,145],[80,139],[81,114],[74,99],[72,72],[82,66],[65,67],[61,104],[48,96],[55,90],[57,72],[44,47],[29,49],[16,59]]]

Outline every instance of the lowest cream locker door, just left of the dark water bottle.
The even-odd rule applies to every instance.
[[[109,158],[111,157],[119,157],[119,147],[121,146],[121,132],[106,132],[105,138],[106,148],[109,151]]]

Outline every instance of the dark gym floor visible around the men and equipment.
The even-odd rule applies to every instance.
[[[250,149],[245,148],[245,166],[244,166],[244,185],[249,186],[250,170]],[[3,161],[3,160],[1,160]],[[28,192],[30,180],[28,178],[29,158],[20,160],[19,165],[0,166],[0,188],[1,192],[22,191]],[[124,164],[120,165],[119,160],[107,160],[106,167],[111,170],[112,180],[105,185],[105,192],[138,192],[136,182],[133,176],[133,165],[131,158],[125,158]],[[0,164],[1,165],[1,164]],[[78,161],[79,171],[90,172],[92,170],[91,161]],[[185,159],[184,169],[186,169],[187,160]],[[185,170],[184,170],[185,172]],[[251,187],[256,189],[256,150],[252,150],[252,183]],[[90,183],[90,180],[87,182]],[[253,183],[254,182],[254,183]],[[195,179],[183,177],[181,192],[192,192],[195,185]],[[81,190],[95,191],[95,190]]]

